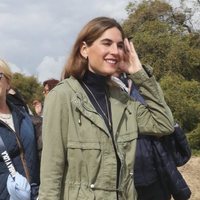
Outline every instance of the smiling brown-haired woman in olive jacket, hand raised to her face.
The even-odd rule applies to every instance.
[[[147,106],[112,84],[122,64]],[[137,199],[138,132],[161,136],[174,125],[154,77],[121,26],[99,17],[79,33],[63,78],[45,100],[40,200]]]

